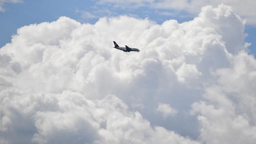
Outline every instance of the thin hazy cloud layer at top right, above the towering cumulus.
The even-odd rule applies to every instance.
[[[256,24],[256,2],[254,0],[139,0],[139,1],[124,1],[124,0],[100,0],[99,4],[112,3],[116,7],[129,7],[129,8],[139,8],[147,7],[154,9],[171,10],[172,12],[163,12],[160,14],[172,15],[173,10],[178,14],[178,12],[188,12],[191,16],[196,16],[203,6],[213,6],[216,7],[218,4],[226,4],[232,6],[234,12],[246,19],[246,23],[249,25]],[[133,7],[132,5],[135,5]],[[176,14],[176,15],[177,15]]]

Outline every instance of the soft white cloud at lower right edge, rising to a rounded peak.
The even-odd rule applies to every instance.
[[[206,88],[205,100],[192,106],[202,124],[200,138],[213,144],[255,142],[255,58],[240,52],[230,68],[215,74],[217,80]]]

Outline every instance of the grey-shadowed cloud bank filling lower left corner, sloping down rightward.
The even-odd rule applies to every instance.
[[[165,128],[152,128],[116,96],[88,100],[70,90],[60,94],[14,91],[8,88],[1,92],[1,98],[4,93],[9,98],[2,101],[1,138],[10,143],[197,144]]]

